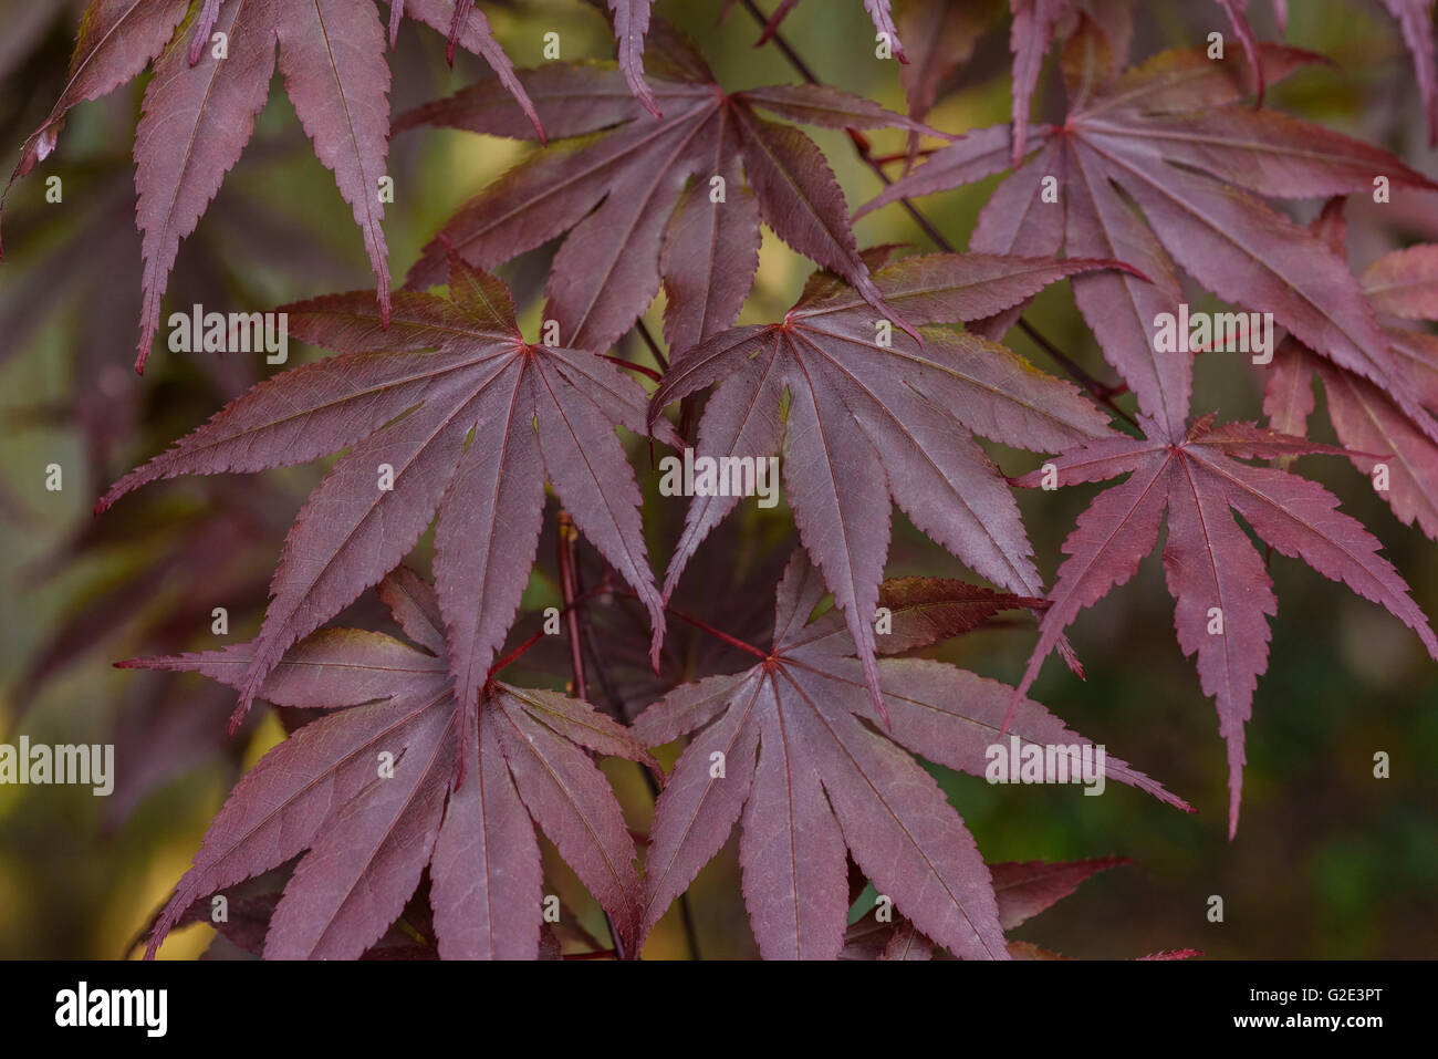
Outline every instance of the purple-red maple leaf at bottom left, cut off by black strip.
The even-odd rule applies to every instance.
[[[381,597],[408,635],[443,642],[426,581],[395,574]],[[239,645],[122,665],[240,686],[252,655],[253,645]],[[240,780],[161,912],[147,955],[198,898],[308,850],[270,919],[267,958],[358,958],[398,918],[429,866],[441,957],[532,960],[542,914],[535,823],[621,940],[634,941],[634,846],[587,751],[657,768],[654,760],[626,728],[554,692],[486,681],[466,705],[450,669],[443,655],[357,629],[326,629],[288,652],[265,698],[332,712]]]

